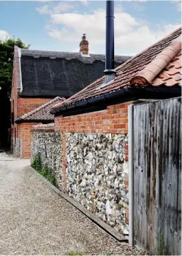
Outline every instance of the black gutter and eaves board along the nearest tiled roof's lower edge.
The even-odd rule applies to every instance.
[[[50,110],[50,113],[55,115],[58,113],[58,116],[61,116],[62,113],[71,112],[75,108],[89,108],[93,105],[114,105],[114,101],[118,99],[120,102],[128,102],[129,100],[141,99],[166,99],[171,97],[181,96],[181,88],[172,88],[169,87],[157,87],[157,88],[124,88],[118,91],[113,91],[108,94],[101,95],[95,98],[85,99],[82,102],[73,103],[72,105],[64,105],[58,108]],[[119,103],[117,103],[119,104]],[[93,110],[94,111],[94,110]]]

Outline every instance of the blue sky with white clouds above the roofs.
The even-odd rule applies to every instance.
[[[115,54],[133,55],[181,26],[181,1],[115,1]],[[105,53],[105,1],[0,1],[0,39],[35,50]]]

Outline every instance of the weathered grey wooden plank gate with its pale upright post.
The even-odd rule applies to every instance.
[[[129,107],[129,237],[181,255],[181,98]]]

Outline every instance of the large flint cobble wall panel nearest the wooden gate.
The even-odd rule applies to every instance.
[[[128,135],[67,133],[67,193],[128,235]]]

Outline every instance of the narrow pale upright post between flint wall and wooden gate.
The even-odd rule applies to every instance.
[[[129,120],[129,244],[134,245],[134,214],[133,214],[133,105],[128,107]]]

